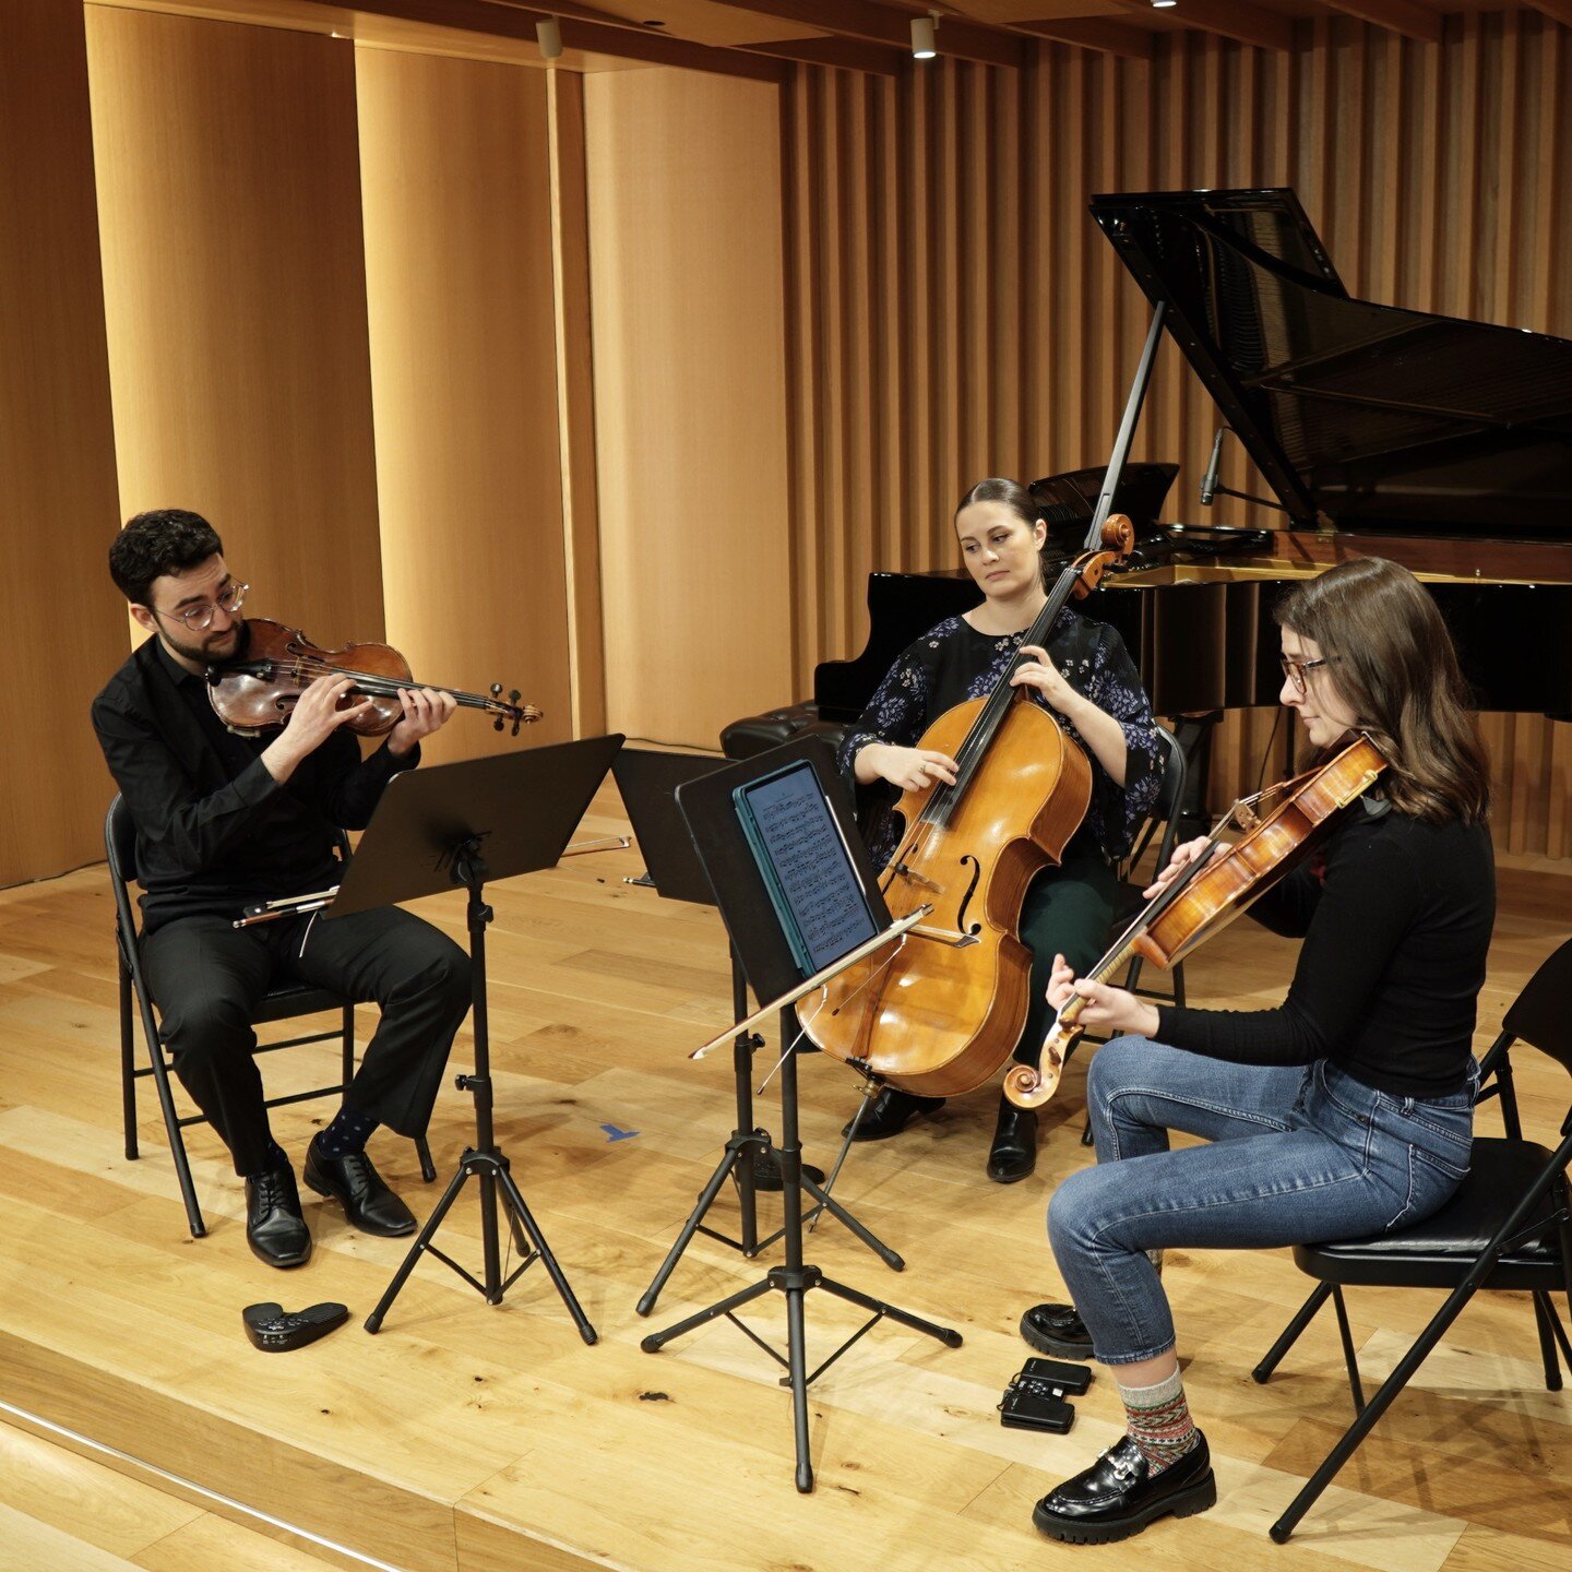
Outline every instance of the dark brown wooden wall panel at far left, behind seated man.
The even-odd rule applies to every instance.
[[[88,704],[126,657],[82,13],[0,6],[0,885],[102,855]]]

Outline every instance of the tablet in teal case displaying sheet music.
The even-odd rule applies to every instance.
[[[811,764],[744,789],[764,855],[808,953],[808,971],[879,929]]]

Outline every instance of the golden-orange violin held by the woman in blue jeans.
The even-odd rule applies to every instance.
[[[1376,744],[1361,734],[1319,769],[1236,802],[1207,836],[1206,850],[1148,901],[1086,979],[1107,982],[1135,956],[1163,968],[1182,960],[1303,861],[1385,769]],[[1242,839],[1225,844],[1229,828],[1243,830]],[[1017,1108],[1041,1108],[1058,1091],[1085,1008],[1086,1000],[1072,994],[1049,1028],[1042,1067],[1017,1064],[1005,1077],[1005,1096]]]

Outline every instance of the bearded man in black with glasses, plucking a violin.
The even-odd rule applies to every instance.
[[[344,1102],[305,1155],[305,1182],[368,1234],[415,1218],[366,1155],[379,1124],[424,1133],[448,1050],[470,1005],[464,951],[398,909],[236,929],[247,905],[338,883],[338,828],[358,830],[384,788],[420,762],[420,740],[453,714],[431,689],[399,695],[402,718],[362,759],[346,726],[369,703],[319,678],[269,737],[231,733],[204,673],[244,654],[247,585],[206,519],[178,508],[132,519],[110,574],[154,637],[93,701],[93,728],[137,830],[141,957],[174,1072],[245,1179],[245,1237],[275,1267],[303,1264],[311,1234],[289,1157],[272,1137],[253,1060],[252,1012],[278,981],[376,1001],[382,1020]]]

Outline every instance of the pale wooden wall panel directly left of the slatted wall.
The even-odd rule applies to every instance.
[[[585,82],[607,715],[634,736],[714,747],[792,687],[780,143],[773,86]],[[846,429],[822,432],[836,476]]]

